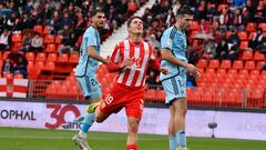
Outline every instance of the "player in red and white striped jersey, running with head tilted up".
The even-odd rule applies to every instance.
[[[117,72],[115,83],[104,101],[95,110],[95,120],[104,121],[111,113],[125,108],[129,122],[126,150],[137,150],[137,129],[143,111],[145,74],[149,67],[167,73],[160,68],[153,48],[143,41],[143,22],[133,17],[127,22],[129,38],[116,44],[110,58],[109,71]],[[92,104],[90,108],[94,108]]]

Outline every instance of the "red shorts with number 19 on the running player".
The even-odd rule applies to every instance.
[[[141,119],[144,104],[144,88],[131,88],[115,83],[100,106],[105,114],[117,113],[125,108],[127,117]]]

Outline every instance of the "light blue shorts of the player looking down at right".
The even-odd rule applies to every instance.
[[[166,93],[166,106],[170,106],[175,99],[186,98],[186,74],[163,80],[162,86]]]

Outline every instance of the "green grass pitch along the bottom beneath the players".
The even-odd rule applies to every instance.
[[[75,131],[0,128],[0,150],[79,150],[71,141]],[[140,134],[140,150],[168,150],[166,136]],[[126,134],[91,132],[93,150],[125,150]],[[266,141],[188,138],[190,150],[266,150]]]

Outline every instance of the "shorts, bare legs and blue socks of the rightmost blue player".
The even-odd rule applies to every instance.
[[[162,82],[164,91],[166,93],[165,103],[170,106],[171,118],[168,124],[170,132],[170,149],[175,150],[175,147],[186,147],[184,124],[185,124],[185,106],[181,109],[177,108],[178,103],[182,103],[182,98],[186,97],[185,77],[174,77]],[[182,117],[181,117],[182,116]],[[182,137],[183,136],[183,137]],[[174,140],[176,142],[174,142]],[[184,147],[185,146],[185,147]]]

